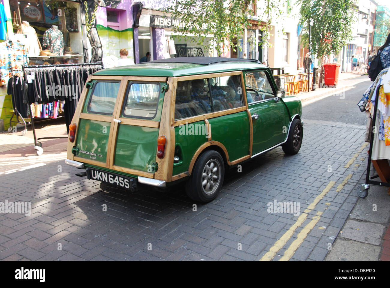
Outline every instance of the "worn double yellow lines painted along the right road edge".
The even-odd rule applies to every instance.
[[[355,162],[356,158],[359,156],[359,153],[363,151],[363,149],[367,146],[367,143],[364,143],[362,145],[362,147],[360,147],[360,150],[358,153],[356,153],[348,162],[347,164],[345,165],[345,168],[348,168],[349,166],[351,166],[353,164],[353,162]],[[342,188],[344,188],[344,185],[346,185],[346,183],[348,182],[349,179],[351,179],[352,177],[352,174],[348,174],[348,176],[344,179],[344,181],[342,181],[342,183],[339,184],[339,186],[337,186],[336,188],[336,192],[339,192],[341,191]],[[324,196],[330,191],[330,189],[332,189],[332,187],[336,184],[335,181],[330,181],[328,183],[328,185],[325,187],[325,189],[321,192],[321,194],[319,194],[316,199],[314,199],[313,203],[311,203],[307,209],[305,209],[305,211],[298,217],[298,219],[296,220],[296,222],[290,227],[290,229],[287,230],[286,233],[284,233],[284,235],[282,237],[280,237],[279,240],[277,240],[277,242],[275,242],[275,244],[271,247],[271,249],[269,249],[269,251],[260,259],[260,261],[271,261],[275,255],[277,254],[277,252],[279,252],[280,249],[282,249],[284,247],[284,245],[287,243],[287,241],[290,240],[290,238],[294,235],[295,233],[295,230],[298,228],[298,227],[301,227],[301,225],[303,224],[303,222],[305,222],[305,220],[307,219],[308,217],[308,213],[310,213],[315,207],[316,205],[318,204],[318,202],[324,198]],[[325,208],[328,209],[328,207],[330,206],[330,203],[325,203],[327,206]],[[303,241],[305,240],[305,238],[307,237],[308,233],[316,226],[316,224],[318,223],[319,219],[321,219],[321,215],[323,214],[323,212],[321,211],[318,211],[316,213],[316,215],[313,216],[312,220],[298,233],[297,235],[297,238],[296,240],[293,241],[293,243],[291,243],[291,245],[287,248],[287,250],[284,252],[284,255],[282,256],[282,258],[279,259],[279,261],[288,261],[291,259],[291,257],[293,257],[296,249],[298,249],[301,244],[303,243]]]

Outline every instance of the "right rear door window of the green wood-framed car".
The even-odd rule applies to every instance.
[[[122,114],[125,117],[152,119],[156,116],[159,97],[160,84],[132,82]]]

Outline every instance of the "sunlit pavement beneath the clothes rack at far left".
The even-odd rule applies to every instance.
[[[37,156],[34,149],[34,135],[31,126],[27,126],[26,135],[21,135],[23,128],[15,133],[0,133],[0,162],[10,160],[34,160],[42,158],[66,158],[67,139],[42,139],[43,154]],[[35,123],[35,135],[41,137],[66,137],[64,118],[51,119]]]

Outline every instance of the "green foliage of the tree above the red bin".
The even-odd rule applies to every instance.
[[[352,0],[298,0],[303,44],[308,46],[308,23],[311,20],[312,53],[324,57],[339,53],[352,37]]]

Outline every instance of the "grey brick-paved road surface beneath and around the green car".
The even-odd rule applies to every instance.
[[[197,203],[196,212],[182,187],[101,190],[63,160],[9,174],[0,166],[0,201],[33,203],[30,216],[0,213],[0,259],[323,260],[357,200],[363,133],[363,126],[306,121],[298,155],[276,148],[242,172],[230,169],[218,198]],[[274,200],[299,203],[301,214],[268,213]]]

